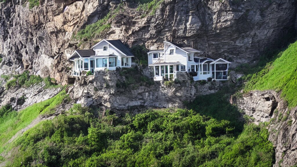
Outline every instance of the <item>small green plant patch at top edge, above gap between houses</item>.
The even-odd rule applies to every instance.
[[[162,2],[164,2],[164,0],[152,0],[144,4],[139,4],[137,11],[142,11],[144,13],[142,17],[146,16],[147,14],[154,15]]]

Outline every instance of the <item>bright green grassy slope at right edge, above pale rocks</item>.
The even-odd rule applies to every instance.
[[[254,74],[245,86],[250,90],[282,91],[281,96],[287,100],[289,107],[297,106],[297,42],[289,47],[274,62],[268,63],[260,72]]]

